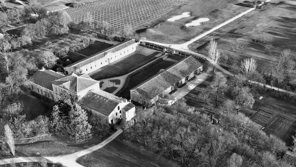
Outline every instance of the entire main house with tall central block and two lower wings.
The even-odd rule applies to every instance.
[[[113,124],[118,119],[131,120],[135,116],[135,106],[126,99],[99,89],[99,81],[87,74],[71,73],[61,75],[52,70],[38,70],[32,76],[32,91],[52,100],[62,91],[81,98],[81,105],[90,116],[101,117],[104,123]]]

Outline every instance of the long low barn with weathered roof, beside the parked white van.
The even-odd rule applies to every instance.
[[[163,90],[162,93],[168,94],[193,78],[194,75],[201,73],[202,66],[202,63],[192,56],[181,59],[176,64],[161,70],[156,75],[131,89],[131,100],[143,105],[155,103],[155,99],[160,94],[160,92],[155,91],[155,88]]]

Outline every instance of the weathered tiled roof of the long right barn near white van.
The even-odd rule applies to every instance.
[[[186,57],[168,67],[166,70],[161,70],[159,73],[135,86],[131,90],[135,90],[147,100],[151,100],[158,95],[157,92],[154,91],[155,86],[164,90],[168,89],[170,86],[175,85],[177,82],[181,81],[181,79],[190,75],[199,67],[202,67],[202,63],[197,61],[197,59],[192,56]]]

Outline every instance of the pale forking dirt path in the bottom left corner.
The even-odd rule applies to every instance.
[[[26,163],[26,162],[42,162],[42,160],[46,160],[48,163],[60,163],[65,167],[84,167],[76,162],[76,159],[89,154],[91,152],[94,152],[106,144],[108,144],[110,141],[115,139],[117,136],[119,136],[123,130],[119,127],[116,127],[117,131],[111,135],[106,140],[102,141],[100,144],[97,144],[95,146],[92,146],[88,149],[84,149],[78,152],[75,152],[70,155],[63,155],[63,156],[57,156],[57,157],[17,157],[17,158],[9,158],[9,159],[3,159],[0,160],[0,165],[10,164],[10,163]]]

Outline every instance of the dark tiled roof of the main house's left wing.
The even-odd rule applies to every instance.
[[[32,80],[37,85],[52,90],[52,83],[50,82],[63,77],[64,75],[55,73],[52,70],[38,70],[36,71],[36,73],[33,74]]]

